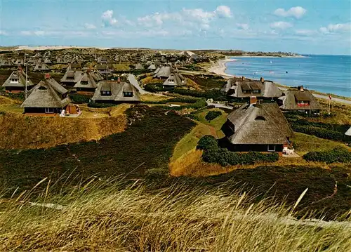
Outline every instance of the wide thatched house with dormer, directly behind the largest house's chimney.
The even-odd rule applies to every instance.
[[[229,79],[221,91],[235,98],[249,98],[251,95],[259,98],[279,98],[283,94],[274,82],[265,81],[263,78],[260,81],[244,78]]]

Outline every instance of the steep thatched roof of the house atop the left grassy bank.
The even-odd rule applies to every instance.
[[[68,91],[55,79],[45,79],[29,91],[29,96],[21,107],[65,107],[71,102]]]

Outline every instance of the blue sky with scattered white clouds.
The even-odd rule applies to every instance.
[[[351,55],[351,1],[1,0],[1,46]]]

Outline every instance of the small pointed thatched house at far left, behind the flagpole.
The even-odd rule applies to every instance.
[[[25,91],[26,74],[22,70],[13,71],[6,79],[4,86],[6,93],[20,93]],[[27,76],[27,91],[34,86],[33,82]]]

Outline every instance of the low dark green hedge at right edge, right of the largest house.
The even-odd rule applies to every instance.
[[[344,147],[336,147],[326,152],[308,152],[303,155],[303,159],[307,161],[319,161],[331,163],[347,163],[351,162],[351,152]]]

